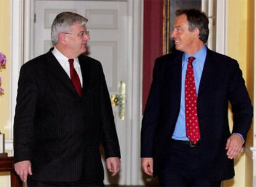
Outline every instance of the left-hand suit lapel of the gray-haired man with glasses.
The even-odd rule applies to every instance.
[[[46,60],[45,60],[47,63],[47,68],[49,70],[49,73],[53,74],[68,89],[72,90],[72,92],[77,94],[77,91],[75,90],[75,87],[73,86],[69,76],[67,75],[66,71],[63,70],[58,60],[54,57],[53,53],[51,52],[52,50],[53,49],[50,49],[49,52],[46,54]]]

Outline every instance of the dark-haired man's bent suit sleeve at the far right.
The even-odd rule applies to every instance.
[[[242,78],[242,71],[236,61],[231,70],[228,90],[234,118],[233,133],[240,133],[246,140],[252,122],[253,109]]]

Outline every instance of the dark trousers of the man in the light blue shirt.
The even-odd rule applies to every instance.
[[[219,186],[221,181],[211,181],[205,175],[200,156],[200,143],[191,147],[181,141],[170,140],[160,167],[161,186]]]

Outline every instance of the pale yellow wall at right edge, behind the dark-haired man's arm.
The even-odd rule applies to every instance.
[[[228,55],[236,58],[242,69],[245,84],[253,98],[254,90],[254,1],[228,1]],[[253,131],[250,129],[247,146],[252,146]],[[236,176],[224,181],[223,186],[252,186],[252,158],[240,154],[235,159]]]

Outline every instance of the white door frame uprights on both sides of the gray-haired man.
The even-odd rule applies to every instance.
[[[128,82],[131,89],[127,95],[131,102],[127,111],[127,180],[126,185],[139,185],[140,183],[140,123],[142,118],[142,26],[143,1],[127,0],[129,39],[128,49]],[[11,140],[6,141],[6,149],[13,151],[13,124],[17,96],[17,82],[20,66],[33,57],[33,23],[35,0],[11,1]]]

